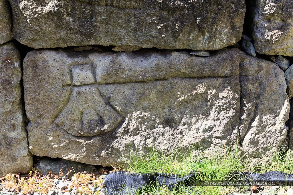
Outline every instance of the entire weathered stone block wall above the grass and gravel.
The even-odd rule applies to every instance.
[[[291,7],[0,0],[0,175],[33,155],[106,166],[150,148],[233,147],[258,163],[286,151]]]

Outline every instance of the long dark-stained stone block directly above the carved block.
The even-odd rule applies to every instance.
[[[9,0],[13,37],[33,48],[130,45],[218,50],[241,38],[244,0]]]

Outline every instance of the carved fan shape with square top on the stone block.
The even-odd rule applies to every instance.
[[[123,117],[103,98],[91,64],[71,69],[71,96],[55,123],[74,136],[96,136],[113,130]]]

